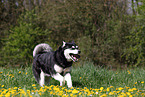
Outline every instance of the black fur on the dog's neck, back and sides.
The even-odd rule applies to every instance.
[[[40,80],[40,73],[41,70],[52,76],[53,74],[56,74],[56,71],[54,70],[54,65],[57,64],[62,68],[67,68],[72,66],[72,61],[68,62],[63,54],[63,48],[59,47],[58,50],[52,51],[52,52],[40,52],[40,54],[37,54],[34,57],[33,61],[33,74],[35,76],[36,81],[39,83]],[[63,72],[61,73],[63,75]],[[64,76],[64,75],[63,75]]]

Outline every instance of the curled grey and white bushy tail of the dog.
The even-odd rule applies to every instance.
[[[37,54],[46,53],[50,51],[52,51],[52,48],[48,44],[46,43],[38,44],[33,50],[33,57],[35,57]]]

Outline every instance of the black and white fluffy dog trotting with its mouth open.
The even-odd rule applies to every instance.
[[[75,42],[67,43],[56,51],[46,44],[38,44],[33,51],[33,74],[40,86],[44,85],[45,76],[51,76],[60,82],[60,86],[67,82],[68,87],[72,87],[71,67],[72,63],[80,58],[81,51]],[[63,83],[64,82],[64,83]]]

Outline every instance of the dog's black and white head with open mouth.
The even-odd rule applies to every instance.
[[[67,59],[67,61],[74,61],[77,62],[80,58],[81,51],[78,49],[78,46],[75,44],[75,42],[67,43],[63,41],[62,48],[64,50],[64,56]]]

